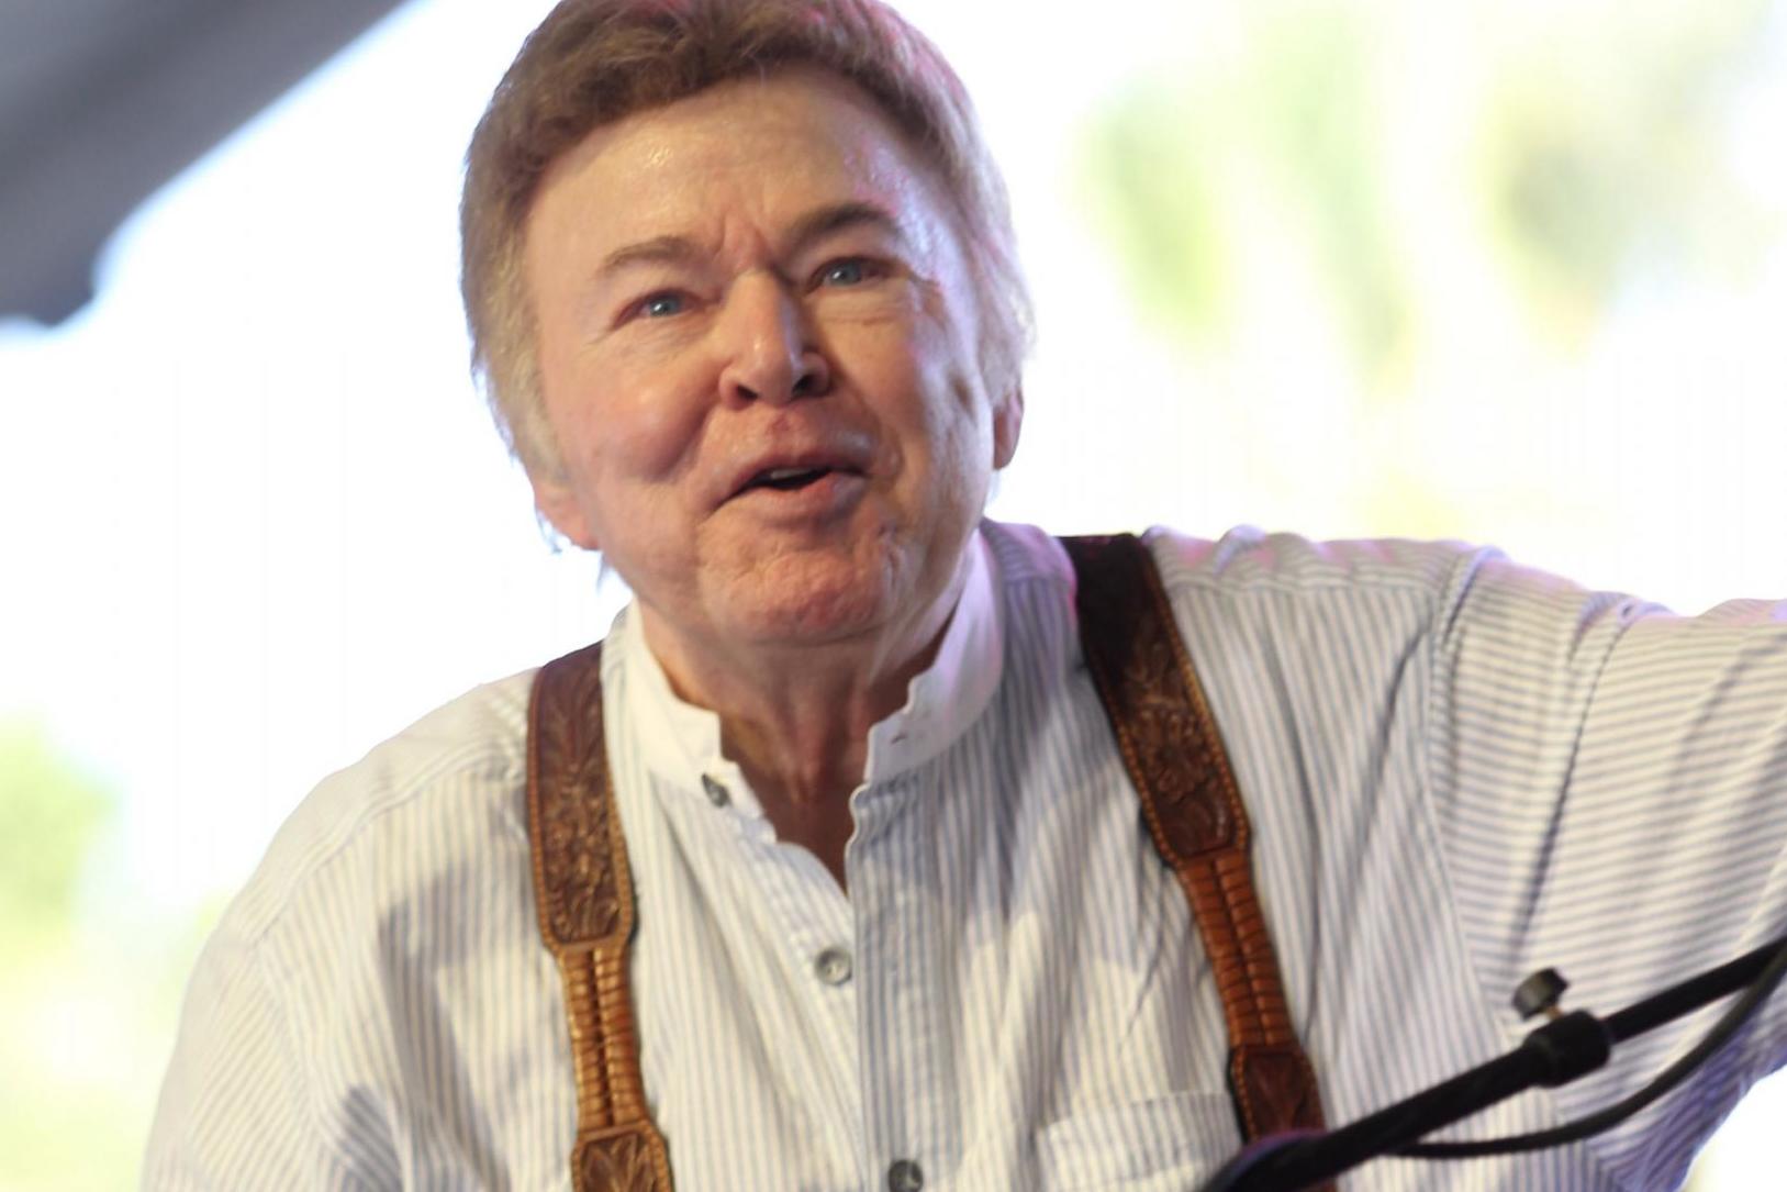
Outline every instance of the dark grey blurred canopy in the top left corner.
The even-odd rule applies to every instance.
[[[155,188],[400,0],[0,0],[0,318],[57,323]]]

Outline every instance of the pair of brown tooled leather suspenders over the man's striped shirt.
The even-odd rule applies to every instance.
[[[1229,1033],[1229,1092],[1251,1142],[1321,1128],[1247,856],[1249,824],[1215,720],[1133,536],[1063,540],[1086,665],[1162,858],[1190,899]],[[633,870],[602,736],[602,647],[541,667],[527,717],[527,835],[540,933],[565,978],[577,1079],[575,1192],[670,1192],[645,1106],[627,976]]]

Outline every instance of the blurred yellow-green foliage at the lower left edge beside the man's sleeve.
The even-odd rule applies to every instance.
[[[0,1192],[136,1183],[179,994],[216,908],[164,922],[84,899],[113,792],[0,722]]]

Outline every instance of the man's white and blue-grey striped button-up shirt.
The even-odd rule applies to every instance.
[[[1539,967],[1617,1010],[1787,929],[1787,606],[1671,617],[1492,552],[1149,538],[1254,820],[1344,1122],[1512,1047]],[[849,897],[779,844],[624,613],[604,652],[645,1088],[677,1187],[1183,1192],[1238,1144],[1224,1024],[1079,661],[1065,554],[985,524],[870,735]],[[559,974],[524,813],[531,676],[327,779],[209,942],[150,1188],[565,1188]],[[1710,1019],[1453,1137],[1555,1126]],[[1787,997],[1587,1144],[1355,1188],[1660,1188],[1787,1062]]]

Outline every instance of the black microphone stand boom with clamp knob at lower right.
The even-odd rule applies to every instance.
[[[1633,1003],[1605,1020],[1587,1010],[1558,1013],[1540,1006],[1553,1015],[1551,1020],[1514,1051],[1340,1129],[1262,1138],[1229,1160],[1201,1192],[1292,1192],[1333,1179],[1519,1092],[1537,1085],[1555,1088],[1585,1076],[1607,1063],[1614,1044],[1735,994],[1755,983],[1771,967],[1769,961],[1778,958],[1787,958],[1787,936]],[[1562,981],[1556,992],[1562,992]]]

